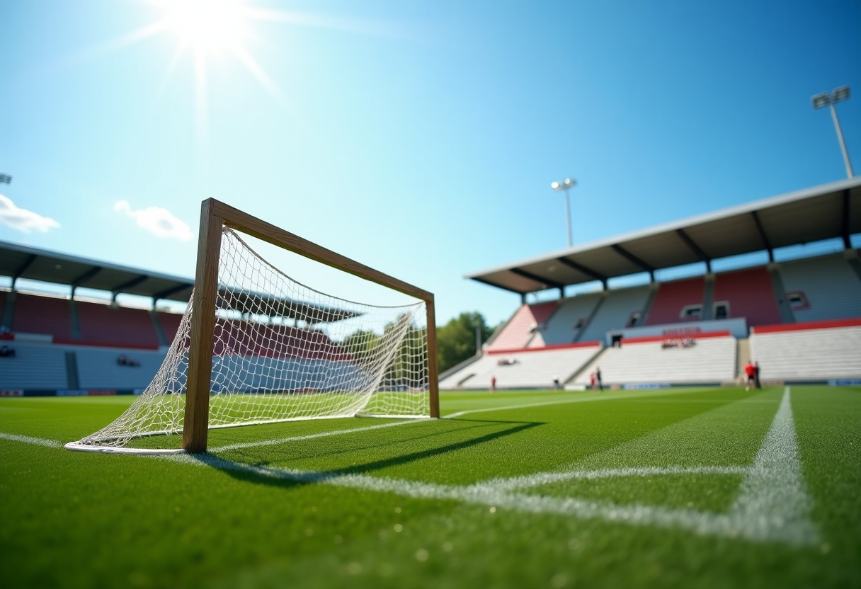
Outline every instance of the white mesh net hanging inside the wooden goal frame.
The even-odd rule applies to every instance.
[[[192,294],[194,297],[194,294]],[[430,414],[424,301],[381,307],[295,281],[222,233],[209,428]],[[183,431],[191,301],[164,363],[126,412],[78,444]]]

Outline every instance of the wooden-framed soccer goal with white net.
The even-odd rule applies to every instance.
[[[247,236],[408,301],[388,307],[325,294],[269,263]],[[433,294],[208,199],[201,206],[195,289],[164,363],[114,423],[66,448],[202,452],[208,430],[217,427],[437,418],[435,325]],[[129,445],[179,434],[182,449]]]

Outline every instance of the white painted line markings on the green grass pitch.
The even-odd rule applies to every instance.
[[[604,397],[604,399],[609,399],[609,397]],[[592,399],[587,398],[587,400]],[[546,404],[530,406],[540,405]],[[496,408],[496,410],[498,409]],[[460,414],[466,414],[466,412]],[[379,429],[393,425],[402,425],[402,423],[324,432],[324,435]],[[0,434],[0,437],[51,447],[62,446],[59,442],[36,437],[16,436],[14,434]],[[287,438],[271,443],[310,437],[320,437],[320,435],[311,434],[307,437]],[[223,448],[231,449],[232,446]],[[449,499],[464,503],[490,505],[492,508],[501,507],[511,511],[557,514],[581,519],[603,519],[639,526],[681,528],[704,536],[744,537],[755,542],[783,542],[790,545],[813,545],[820,541],[815,524],[809,519],[813,501],[809,498],[804,487],[790,403],[790,387],[784,389],[777,413],[771,422],[768,433],[765,434],[763,443],[753,460],[753,465],[746,467],[668,466],[571,470],[536,473],[508,479],[492,479],[474,485],[456,486],[374,477],[366,474],[267,468],[232,462],[213,454],[199,456],[180,454],[161,457],[172,462],[248,472],[277,480],[321,483],[335,487],[395,493],[416,499]],[[562,480],[595,480],[609,477],[660,476],[665,474],[744,474],[745,476],[741,482],[739,497],[728,513],[673,509],[656,505],[616,505],[611,502],[592,499],[514,492],[517,489],[540,487]]]

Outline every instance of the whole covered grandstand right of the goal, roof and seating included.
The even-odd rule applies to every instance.
[[[767,381],[861,382],[859,234],[861,179],[850,178],[470,273],[521,306],[440,386],[487,388],[495,376],[503,388],[582,388],[598,368],[610,387],[729,384],[751,360]],[[833,247],[781,255],[817,243]],[[696,276],[656,279],[697,263]],[[592,292],[567,295],[590,282]],[[527,302],[548,291],[557,298]]]

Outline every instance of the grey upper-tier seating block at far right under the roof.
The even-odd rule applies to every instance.
[[[780,276],[796,321],[861,317],[861,279],[844,254],[781,263]]]

